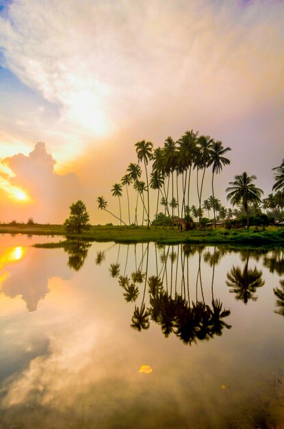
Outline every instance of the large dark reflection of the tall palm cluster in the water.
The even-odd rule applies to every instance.
[[[131,319],[132,328],[139,331],[149,329],[149,319],[151,319],[161,327],[164,336],[168,337],[171,333],[174,333],[186,344],[194,343],[197,340],[212,339],[215,335],[222,335],[222,330],[224,328],[231,328],[231,326],[223,320],[230,315],[230,310],[223,309],[222,302],[218,299],[214,299],[214,269],[215,265],[220,262],[222,257],[222,252],[216,247],[214,247],[213,254],[208,250],[204,256],[205,260],[209,262],[209,265],[213,267],[211,278],[211,304],[205,303],[201,275],[201,256],[204,249],[205,247],[202,246],[194,247],[184,245],[177,246],[176,252],[173,246],[168,246],[167,251],[165,246],[162,248],[160,247],[162,268],[158,269],[157,246],[155,246],[155,271],[156,274],[159,274],[149,275],[149,244],[146,245],[145,250],[142,248],[140,264],[136,271],[131,273],[131,279],[128,275],[120,275],[118,278],[118,284],[122,287],[123,296],[127,302],[136,301],[139,295],[138,284],[144,282],[141,304],[140,306],[135,305],[133,310]],[[188,264],[185,264],[185,261],[187,260],[188,262],[189,256],[194,255],[195,252],[198,253],[196,302],[192,301],[190,304]],[[142,272],[145,258],[146,267],[145,271]],[[112,277],[114,277],[113,271],[109,271]],[[165,286],[163,282],[165,282]],[[170,284],[168,284],[168,282]],[[149,294],[148,306],[145,304],[147,285]],[[202,301],[198,300],[198,285],[201,288]]]

